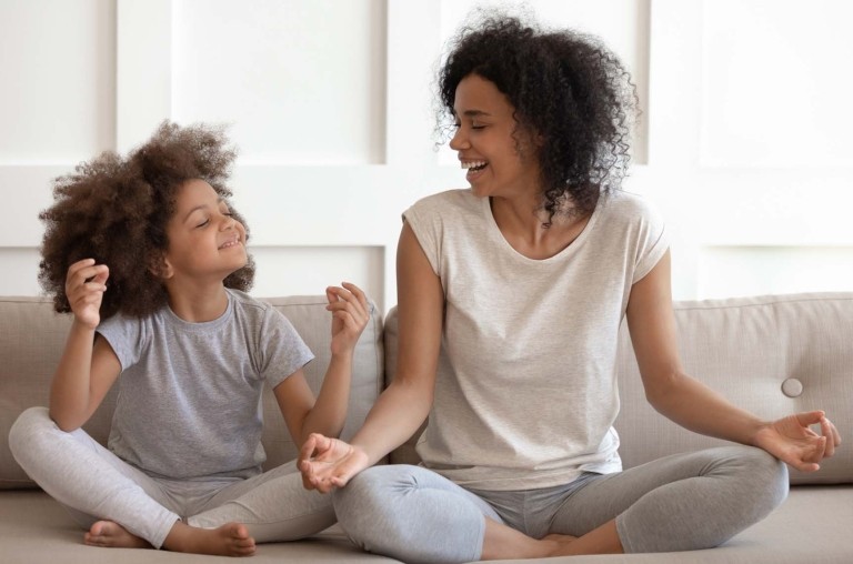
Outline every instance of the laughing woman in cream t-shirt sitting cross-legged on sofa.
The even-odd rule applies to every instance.
[[[619,190],[623,67],[589,37],[492,17],[439,81],[471,188],[404,213],[397,375],[351,444],[305,442],[310,486],[405,562],[704,548],[764,517],[787,492],[780,461],[814,471],[840,437],[823,412],[761,421],[683,372],[664,224]],[[651,404],[749,446],[620,472],[623,318]],[[369,467],[428,414],[422,466]]]

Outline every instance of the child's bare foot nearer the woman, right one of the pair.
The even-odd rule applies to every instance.
[[[218,528],[199,528],[177,522],[163,541],[163,548],[219,556],[251,556],[254,538],[240,523],[227,523]]]

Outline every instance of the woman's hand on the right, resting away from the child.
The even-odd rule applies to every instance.
[[[821,425],[821,434],[810,425]],[[822,411],[789,415],[762,427],[755,444],[801,472],[820,470],[820,462],[835,454],[841,435]]]

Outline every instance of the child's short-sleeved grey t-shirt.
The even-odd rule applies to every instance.
[[[313,359],[270,304],[228,290],[219,319],[189,323],[168,306],[98,328],[121,362],[109,447],[149,475],[178,480],[260,473],[264,382]]]

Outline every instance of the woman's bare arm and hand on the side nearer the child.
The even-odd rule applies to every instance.
[[[405,442],[432,406],[444,293],[408,224],[397,254],[400,341],[394,381],[382,392],[351,444],[311,435],[300,452],[305,482],[322,492],[341,487]]]

